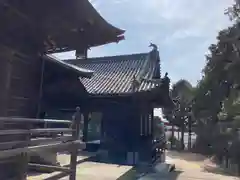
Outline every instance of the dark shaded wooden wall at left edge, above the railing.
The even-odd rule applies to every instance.
[[[0,116],[36,116],[41,61],[29,54],[0,45]]]

